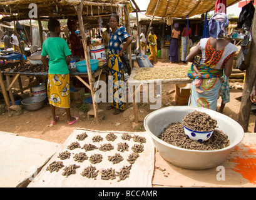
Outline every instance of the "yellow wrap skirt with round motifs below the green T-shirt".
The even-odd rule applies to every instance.
[[[69,108],[69,74],[48,74],[47,96],[49,104],[59,108]]]

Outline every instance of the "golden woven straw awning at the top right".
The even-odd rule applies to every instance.
[[[241,0],[227,0],[226,5],[232,6]],[[158,0],[151,0],[146,9],[146,15],[153,16]],[[216,0],[159,0],[155,16],[184,18],[203,14],[215,9]]]

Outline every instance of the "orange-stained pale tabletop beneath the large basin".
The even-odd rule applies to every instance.
[[[183,169],[155,154],[153,187],[256,187],[256,135],[245,133],[220,166]],[[218,167],[218,168],[217,168]],[[221,174],[221,175],[220,175]]]

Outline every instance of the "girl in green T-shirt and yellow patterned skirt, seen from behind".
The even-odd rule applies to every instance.
[[[61,26],[57,19],[49,19],[48,29],[50,37],[43,42],[41,61],[49,68],[47,94],[51,113],[53,114],[51,124],[56,124],[59,116],[56,116],[56,107],[65,108],[68,124],[72,125],[79,117],[71,117],[70,114],[70,91],[69,91],[69,69],[71,51],[66,41],[59,37]],[[49,64],[46,56],[49,55]]]

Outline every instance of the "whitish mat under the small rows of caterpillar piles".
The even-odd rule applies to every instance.
[[[84,141],[78,141],[78,139],[76,139],[76,136],[84,132],[88,134],[88,137],[84,139]],[[106,140],[106,135],[109,133],[114,133],[116,136],[118,136],[115,141]],[[130,139],[130,141],[121,139],[123,133],[128,133],[131,136],[138,135],[141,137],[145,137],[146,143],[142,143],[144,146],[144,151],[142,153],[139,153],[140,156],[132,165],[128,178],[119,182],[118,176],[116,176],[116,179],[113,180],[102,180],[100,173],[102,169],[112,168],[115,169],[115,171],[121,171],[121,168],[123,168],[123,166],[130,166],[130,163],[128,163],[126,159],[128,159],[128,156],[133,153],[131,148],[135,144],[140,144],[133,141],[133,139]],[[93,136],[97,135],[100,135],[103,138],[103,141],[101,141],[100,143],[93,143],[92,138]],[[103,144],[111,143],[114,146],[114,149],[106,152],[100,151],[99,149],[95,149],[93,151],[85,151],[81,148],[76,148],[73,150],[67,149],[69,144],[73,142],[78,142],[81,148],[83,148],[84,144],[94,144],[95,146],[100,148],[100,146]],[[123,153],[117,151],[118,143],[128,144],[129,151],[125,151]],[[64,160],[59,159],[59,153],[62,153],[66,150],[71,153],[70,158]],[[86,155],[88,156],[88,159],[83,161],[83,163],[78,163],[74,161],[73,158],[75,154],[80,152],[86,153]],[[114,156],[115,153],[120,153],[121,156],[123,156],[123,161],[118,164],[113,164],[112,162],[108,161],[108,156]],[[101,154],[103,156],[101,163],[91,164],[89,158],[92,154]],[[80,166],[80,168],[76,169],[76,174],[71,174],[68,177],[62,175],[64,172],[64,167],[59,169],[58,172],[53,171],[52,173],[50,173],[49,171],[46,171],[46,168],[49,166],[49,164],[53,163],[53,161],[63,161],[64,167],[69,166],[69,164],[76,164],[76,166]],[[38,176],[36,176],[36,178],[29,184],[28,187],[151,187],[151,181],[154,172],[154,162],[155,147],[150,136],[148,136],[146,132],[131,133],[120,131],[92,131],[88,129],[75,129],[73,133],[71,133],[69,138],[66,139],[66,141],[61,145],[56,154],[54,154],[53,158],[49,160],[49,162],[44,166]],[[87,168],[89,166],[95,166],[96,169],[100,171],[96,179],[89,179],[81,176],[84,168]]]

